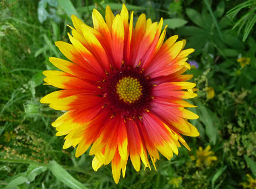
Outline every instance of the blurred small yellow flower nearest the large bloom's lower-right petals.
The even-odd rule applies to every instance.
[[[214,155],[214,153],[212,151],[210,151],[210,149],[211,149],[211,146],[208,145],[208,146],[206,146],[206,148],[204,150],[203,150],[203,148],[201,146],[199,147],[198,150],[196,150],[196,157],[197,157],[196,166],[197,167],[202,166],[203,163],[206,166],[210,166],[210,165],[213,164],[212,161],[217,161],[217,157]],[[192,161],[194,161],[195,160],[195,156],[191,155],[190,159]]]

